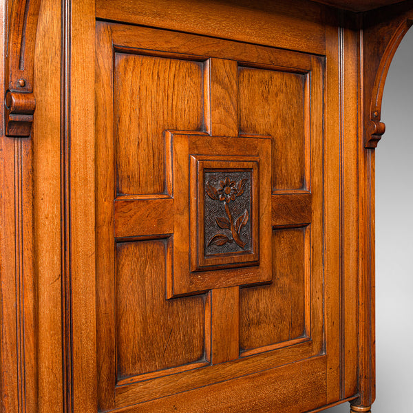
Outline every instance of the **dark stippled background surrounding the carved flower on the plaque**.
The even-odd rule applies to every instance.
[[[208,255],[213,254],[222,254],[222,253],[240,253],[240,252],[252,252],[252,229],[251,229],[251,219],[252,219],[252,211],[251,211],[251,189],[252,189],[252,170],[251,169],[244,169],[241,171],[214,171],[213,169],[205,169],[204,170],[204,185],[207,185],[207,182],[211,184],[212,187],[216,189],[220,189],[221,185],[220,182],[225,182],[225,178],[228,177],[229,180],[240,182],[242,179],[246,179],[244,193],[242,195],[235,197],[235,200],[231,200],[228,203],[229,209],[231,214],[233,215],[234,222],[237,220],[240,215],[244,213],[245,210],[248,211],[248,222],[244,227],[242,227],[240,232],[240,237],[242,241],[246,244],[244,248],[241,248],[235,242],[226,242],[226,244],[222,246],[211,244],[208,246],[209,240],[214,235],[217,234],[224,234],[230,239],[232,239],[231,231],[229,229],[221,229],[217,222],[215,221],[216,218],[228,218],[225,213],[225,206],[224,201],[217,201],[212,200],[209,198],[207,191],[204,189],[205,194],[205,202],[204,202],[204,255],[207,257]],[[255,200],[256,202],[257,200]]]

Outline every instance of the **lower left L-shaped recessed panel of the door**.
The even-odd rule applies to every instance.
[[[118,379],[204,359],[204,296],[165,299],[167,240],[116,244]]]

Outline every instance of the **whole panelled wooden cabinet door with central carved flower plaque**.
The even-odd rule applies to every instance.
[[[325,405],[324,59],[98,22],[95,96],[98,410]]]

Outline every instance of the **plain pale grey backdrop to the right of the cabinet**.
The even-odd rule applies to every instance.
[[[413,28],[390,66],[381,120],[386,132],[376,149],[377,398],[372,413],[412,413]],[[348,413],[349,405],[325,412]]]

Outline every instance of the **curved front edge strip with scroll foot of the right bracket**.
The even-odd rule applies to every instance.
[[[394,54],[399,47],[403,37],[413,25],[412,19],[404,19],[399,27],[396,28],[394,34],[385,48],[383,56],[374,79],[372,89],[372,97],[370,101],[370,130],[366,134],[365,147],[374,149],[377,147],[381,136],[385,132],[385,124],[381,122],[381,103],[383,101],[383,90],[385,80],[388,75],[390,64],[392,63]]]

